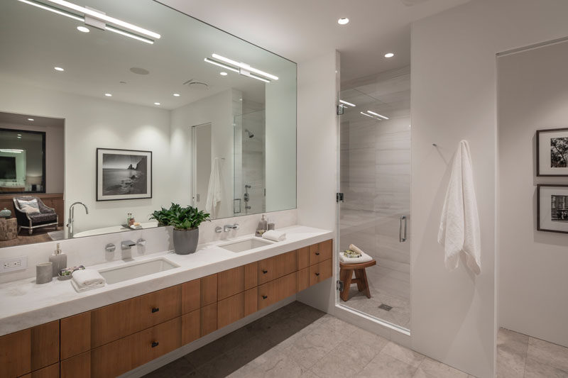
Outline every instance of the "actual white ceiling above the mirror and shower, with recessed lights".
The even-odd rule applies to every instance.
[[[342,80],[410,65],[410,23],[467,1],[160,0],[298,63],[337,49]]]

